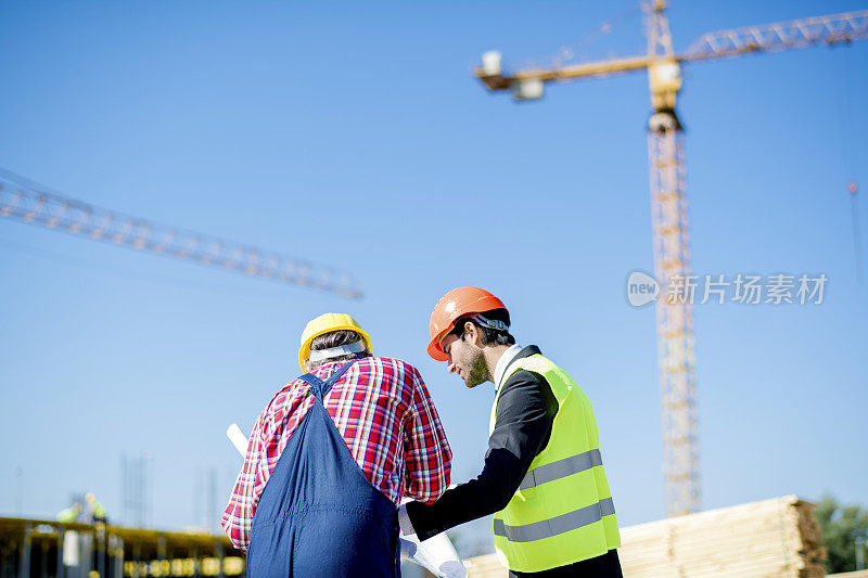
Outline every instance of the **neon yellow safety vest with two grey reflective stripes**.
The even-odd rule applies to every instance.
[[[520,370],[545,377],[558,400],[558,414],[548,445],[531,462],[507,508],[495,514],[498,558],[513,571],[541,571],[618,548],[593,409],[565,371],[539,354],[514,360],[497,384],[489,435],[503,384]]]

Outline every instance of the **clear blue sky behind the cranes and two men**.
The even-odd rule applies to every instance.
[[[486,93],[483,51],[545,59],[629,2],[4,2],[0,166],[95,205],[353,271],[349,301],[0,222],[0,513],[73,491],[120,512],[120,452],[154,457],[154,522],[201,523],[248,431],[295,376],[298,335],[354,314],[419,367],[477,473],[492,388],[425,356],[434,303],[480,285],[523,344],[595,403],[622,524],[663,516],[643,74]],[[852,1],[674,2],[676,48],[707,30]],[[629,13],[579,51],[643,50]],[[697,273],[825,273],[819,306],[695,308],[703,505],[831,491],[868,501],[866,281],[846,184],[868,185],[868,42],[689,66]],[[864,192],[861,193],[864,194]],[[863,232],[868,207],[860,201]],[[861,239],[863,256],[868,255]],[[863,264],[865,269],[868,264]],[[199,514],[199,515],[197,515]]]

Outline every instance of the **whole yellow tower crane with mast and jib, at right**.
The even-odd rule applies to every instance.
[[[700,508],[692,306],[679,295],[687,287],[671,284],[672,280],[684,280],[690,274],[682,130],[675,108],[681,89],[681,66],[866,39],[868,10],[707,33],[684,52],[676,53],[666,8],[666,0],[650,0],[643,5],[646,54],[507,74],[500,53],[492,51],[483,54],[482,66],[475,68],[474,75],[492,91],[511,90],[516,100],[528,100],[541,98],[547,82],[648,70],[654,275],[662,291],[669,290],[667,298],[656,301],[665,504],[666,514],[676,516]]]

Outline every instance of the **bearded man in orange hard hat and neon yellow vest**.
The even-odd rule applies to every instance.
[[[420,540],[494,514],[510,576],[621,577],[621,536],[590,401],[539,348],[515,345],[503,303],[459,287],[431,313],[429,355],[468,387],[494,382],[482,473],[399,518]]]

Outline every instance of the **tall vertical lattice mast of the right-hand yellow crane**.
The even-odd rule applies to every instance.
[[[700,467],[693,313],[684,282],[690,275],[684,142],[675,113],[681,74],[665,9],[656,0],[646,21],[652,111],[648,158],[654,277],[661,288],[655,307],[665,503],[666,515],[677,516],[699,510]]]

